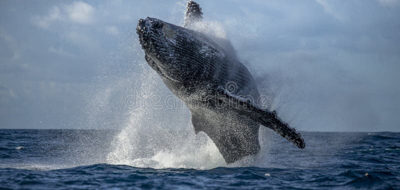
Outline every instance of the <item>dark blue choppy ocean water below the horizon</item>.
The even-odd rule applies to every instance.
[[[141,150],[142,158],[121,165],[111,159],[126,153],[115,151],[118,136],[117,130],[0,130],[0,189],[400,189],[400,133],[302,132],[304,150],[266,134],[267,151],[257,161],[233,165],[195,149],[184,159],[171,156],[178,154],[173,150],[158,157]]]

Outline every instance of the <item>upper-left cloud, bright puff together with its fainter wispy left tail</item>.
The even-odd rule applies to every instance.
[[[32,23],[40,28],[48,28],[54,21],[71,21],[90,24],[94,21],[94,8],[85,2],[74,1],[66,5],[54,5],[46,15],[33,16]]]

